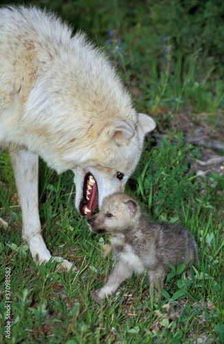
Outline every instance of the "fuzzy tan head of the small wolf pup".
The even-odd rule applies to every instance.
[[[104,199],[100,212],[87,222],[93,233],[125,234],[135,228],[139,213],[139,205],[130,196],[113,193]]]

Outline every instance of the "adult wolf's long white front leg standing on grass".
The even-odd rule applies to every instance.
[[[22,210],[23,239],[27,241],[34,261],[41,264],[49,261],[51,255],[41,235],[38,214],[38,155],[25,150],[13,151],[10,155]],[[55,259],[62,261],[66,270],[72,266],[63,258]]]

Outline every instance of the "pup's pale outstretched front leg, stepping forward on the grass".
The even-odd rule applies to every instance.
[[[107,283],[98,292],[96,292],[94,299],[100,302],[102,299],[104,299],[104,297],[113,294],[113,292],[117,290],[122,282],[128,278],[131,278],[132,274],[133,269],[129,266],[129,264],[122,261],[117,261],[117,264],[111,272]]]

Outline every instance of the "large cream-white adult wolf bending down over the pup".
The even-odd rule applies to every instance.
[[[84,34],[72,36],[37,8],[0,9],[0,89],[0,146],[12,157],[23,239],[35,261],[49,261],[38,216],[38,155],[58,173],[74,171],[76,208],[89,216],[104,197],[124,190],[155,122],[136,113]]]

